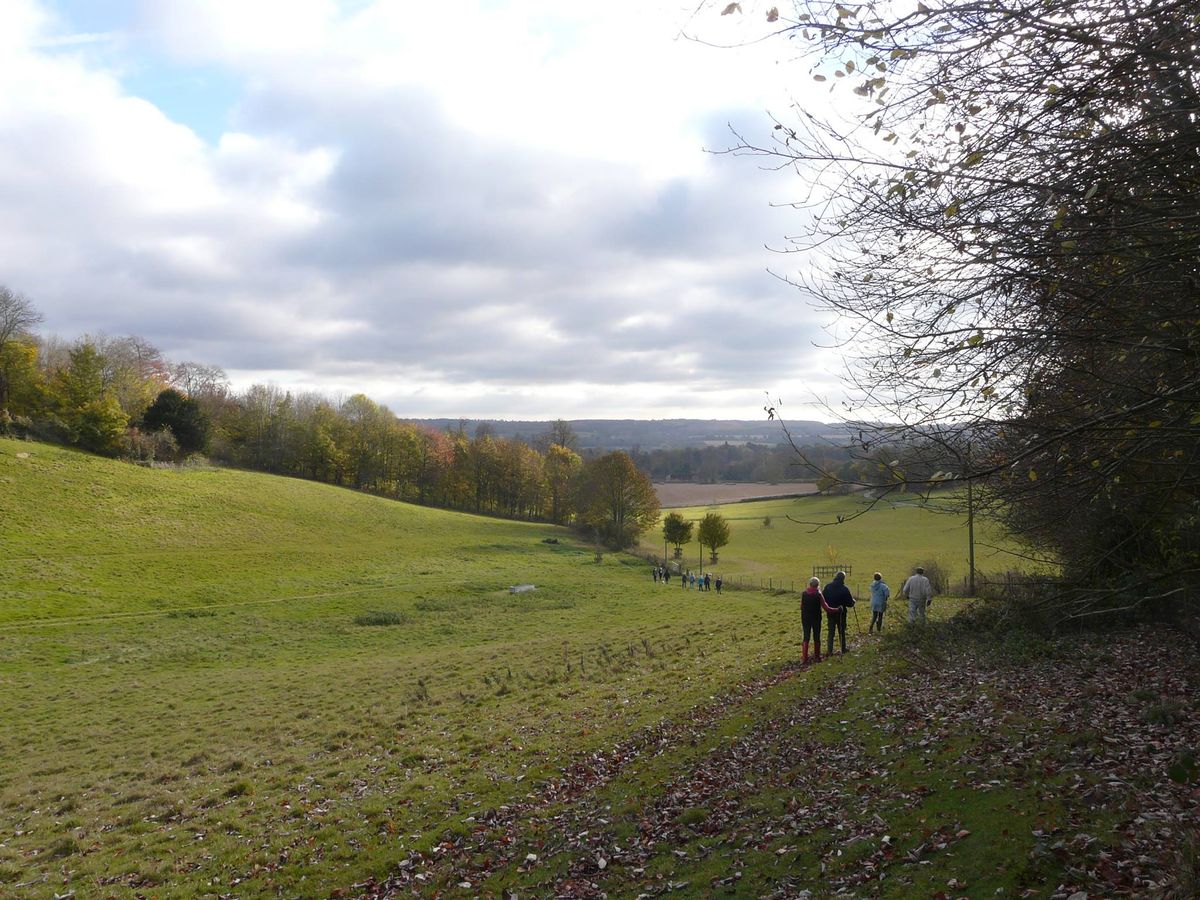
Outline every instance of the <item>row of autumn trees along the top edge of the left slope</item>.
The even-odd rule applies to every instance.
[[[193,454],[247,469],[415,503],[574,524],[625,547],[658,520],[647,475],[628,454],[584,460],[570,425],[530,442],[487,425],[437,431],[364,394],[331,400],[172,362],[139,337],[41,337],[41,316],[0,287],[0,434],[137,462]]]

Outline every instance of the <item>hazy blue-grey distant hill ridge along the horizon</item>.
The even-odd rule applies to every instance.
[[[473,434],[481,424],[490,425],[503,438],[533,439],[544,433],[548,421],[505,419],[409,419],[438,431],[460,424]],[[784,444],[787,438],[778,421],[743,419],[571,419],[586,450],[668,450],[712,444]],[[840,437],[842,427],[816,421],[787,424],[797,443],[823,437]]]

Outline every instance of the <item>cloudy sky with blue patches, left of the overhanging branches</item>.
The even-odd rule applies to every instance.
[[[695,1],[2,0],[0,283],[41,331],[403,418],[821,418],[779,276],[809,79]],[[808,102],[805,100],[805,102]]]

